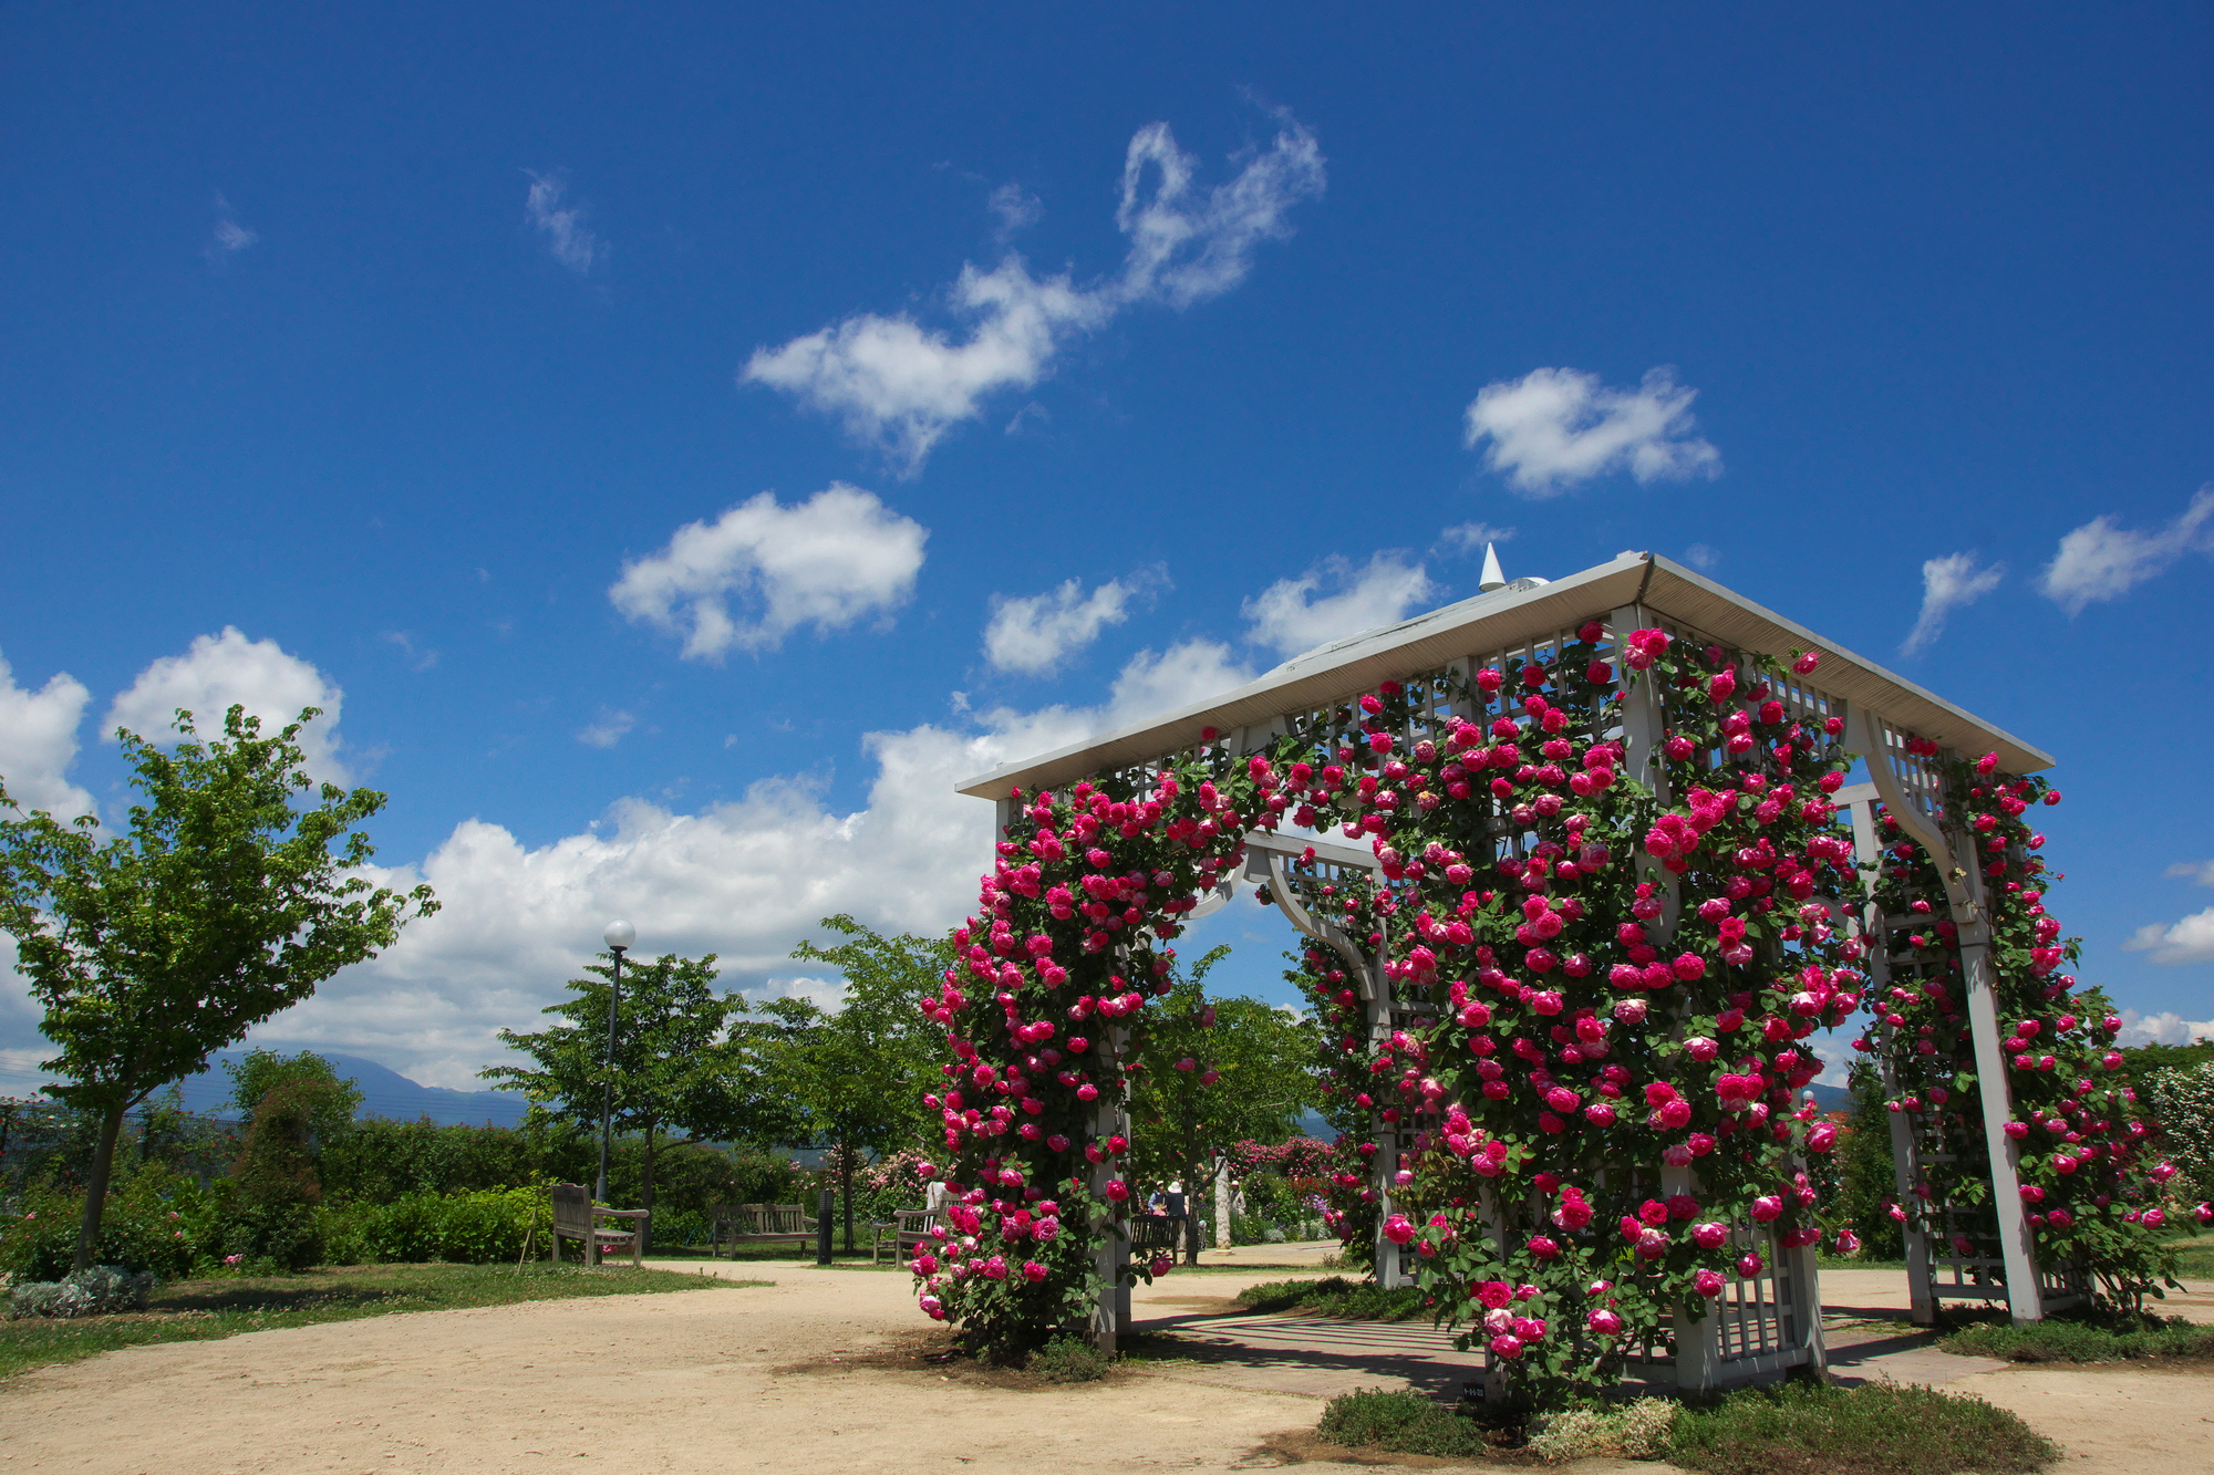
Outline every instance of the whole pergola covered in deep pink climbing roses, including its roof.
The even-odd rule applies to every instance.
[[[1849,782],[1864,760],[1866,782]],[[1242,877],[1306,937],[1370,1123],[1333,1225],[1419,1282],[1494,1395],[1820,1371],[1800,1090],[1864,1017],[1915,1311],[2035,1320],[2161,1280],[2165,1165],[2119,1021],[2059,972],[2050,757],[1665,558],[1519,580],[963,786],[999,806],[945,1028],[921,1309],[1114,1349],[1127,1074],[1169,941]]]

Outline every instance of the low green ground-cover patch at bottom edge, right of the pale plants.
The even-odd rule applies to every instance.
[[[1680,1411],[1667,1457],[1707,1475],[2028,1475],[2059,1451],[1968,1393],[1791,1382]]]

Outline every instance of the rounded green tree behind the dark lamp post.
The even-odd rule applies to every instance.
[[[607,957],[584,966],[593,977],[569,979],[569,999],[547,1005],[547,1014],[567,1023],[538,1034],[500,1030],[500,1039],[531,1056],[536,1070],[494,1065],[480,1074],[496,1090],[525,1092],[551,1116],[580,1127],[600,1123],[600,1103],[613,1081],[615,1130],[644,1138],[640,1207],[651,1211],[653,1156],[662,1134],[744,1134],[764,1103],[748,1090],[746,1039],[728,1028],[733,1017],[746,1012],[746,1001],[715,992],[713,952],[702,959],[664,952],[651,963],[622,968],[611,1074],[607,994],[615,966],[613,955]]]

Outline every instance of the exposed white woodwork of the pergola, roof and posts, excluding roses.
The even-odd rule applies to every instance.
[[[1494,567],[1494,565],[1490,565]],[[1490,574],[1488,567],[1488,574]],[[2001,1258],[1997,1262],[1975,1256],[1955,1256],[1944,1236],[1937,1242],[1920,1231],[1908,1234],[1908,1269],[1913,1282],[1915,1318],[1928,1320],[1939,1298],[1990,1300],[1997,1291],[1984,1282],[1990,1271],[2004,1271],[2006,1300],[2015,1320],[2037,1320],[2046,1309],[2055,1309],[2063,1298],[2079,1293],[2072,1278],[2039,1273],[2032,1254],[2030,1227],[2024,1218],[2021,1196],[2015,1178],[2015,1143],[2004,1125],[2013,1118],[2006,1061],[1999,1054],[1999,1028],[1993,1003],[1993,977],[1988,941],[1990,928],[1984,919],[1982,866],[1968,842],[1946,833],[1937,813],[1937,777],[1928,764],[1908,753],[1908,738],[1935,740],[1942,749],[1962,755],[1997,753],[1999,766],[2008,773],[2035,773],[2048,769],[2052,757],[2019,738],[1990,726],[1982,718],[1962,711],[1953,702],[1908,682],[1884,667],[1855,656],[1824,640],[1815,631],[1787,620],[1722,585],[1654,554],[1618,554],[1612,563],[1583,569],[1559,580],[1523,578],[1512,585],[1488,589],[1475,598],[1444,609],[1362,631],[1304,656],[1286,660],[1266,675],[1224,691],[1222,695],[1182,706],[1178,711],[1147,718],[1131,726],[1105,733],[1054,753],[1005,764],[974,777],[961,793],[999,804],[1001,833],[1012,819],[1010,795],[1021,788],[1061,788],[1076,780],[1098,777],[1122,769],[1158,764],[1176,753],[1191,751],[1207,742],[1202,733],[1213,729],[1215,746],[1227,746],[1233,755],[1262,749],[1269,740],[1291,731],[1291,724],[1313,713],[1335,709],[1362,693],[1375,691],[1382,682],[1408,680],[1421,673],[1452,671],[1463,682],[1481,667],[1503,658],[1521,656],[1543,660],[1574,638],[1587,620],[1601,620],[1612,638],[1632,629],[1663,627],[1680,640],[1698,644],[1718,642],[1731,649],[1758,651],[1789,664],[1798,649],[1820,649],[1822,664],[1813,678],[1789,678],[1780,693],[1796,718],[1815,722],[1829,715],[1846,720],[1846,746],[1862,753],[1869,766],[1869,782],[1853,784],[1831,800],[1851,811],[1853,833],[1862,866],[1877,864],[1882,844],[1875,833],[1873,806],[1880,802],[1920,842],[1946,879],[1953,921],[1959,928],[1962,972],[1966,979],[1968,1021],[1975,1041],[1975,1067],[1982,1083],[1984,1130],[1990,1149],[1995,1207],[1999,1214]],[[1618,673],[1627,675],[1627,673]],[[1448,715],[1448,713],[1439,713]],[[1466,713],[1463,713],[1466,715]],[[1625,773],[1647,775],[1658,769],[1647,760],[1660,740],[1658,702],[1649,684],[1638,684],[1625,693],[1621,740],[1625,744]],[[1669,795],[1663,793],[1663,800]],[[1322,921],[1302,904],[1302,884],[1286,870],[1286,862],[1306,848],[1306,837],[1269,835],[1253,831],[1246,835],[1244,875],[1269,884],[1271,899],[1286,919],[1308,937],[1331,946],[1348,961],[1348,974],[1362,979],[1368,1003],[1368,1025],[1377,1039],[1390,1034],[1410,1019],[1413,1005],[1426,1001],[1395,999],[1393,983],[1384,977],[1382,952],[1370,955],[1337,928]],[[1375,857],[1368,848],[1315,842],[1317,859],[1328,873],[1370,870]],[[1209,906],[1229,899],[1229,881],[1211,897]],[[1849,915],[1860,908],[1844,908]],[[1196,912],[1198,915],[1198,912]],[[1674,906],[1667,912],[1674,924]],[[1889,986],[1889,935],[1891,924],[1873,915],[1860,917],[1864,935],[1875,943],[1869,950],[1869,972],[1875,988]],[[1399,1161],[1397,1130],[1382,1123],[1377,1143],[1377,1194],[1390,1196],[1390,1174]],[[1109,1130],[1103,1125],[1103,1130]],[[1893,1147],[1900,1165],[1900,1192],[1920,1178],[1917,1154],[1933,1143],[1908,1130],[1902,1114],[1893,1114]],[[1689,1172],[1689,1169],[1665,1169]],[[1399,1282],[1406,1273],[1395,1247],[1379,1245],[1379,1276],[1386,1285]],[[1127,1256],[1127,1245],[1120,1247]],[[1718,1316],[1707,1316],[1700,1327],[1678,1327],[1678,1380],[1685,1386],[1711,1389],[1731,1382],[1773,1375],[1776,1371],[1820,1362],[1820,1293],[1815,1287],[1813,1251],[1784,1251],[1765,1256],[1771,1271],[1731,1287],[1731,1300]],[[1114,1285],[1114,1269],[1103,1271]],[[1114,1324],[1127,1318],[1127,1291],[1118,1307],[1103,1307],[1107,1335]]]

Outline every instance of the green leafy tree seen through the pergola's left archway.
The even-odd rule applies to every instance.
[[[1209,999],[1213,948],[1176,979],[1136,1043],[1131,1167],[1184,1183],[1184,1262],[1200,1262],[1198,1205],[1231,1143],[1280,1143],[1322,1098],[1315,1030],[1260,999]]]

